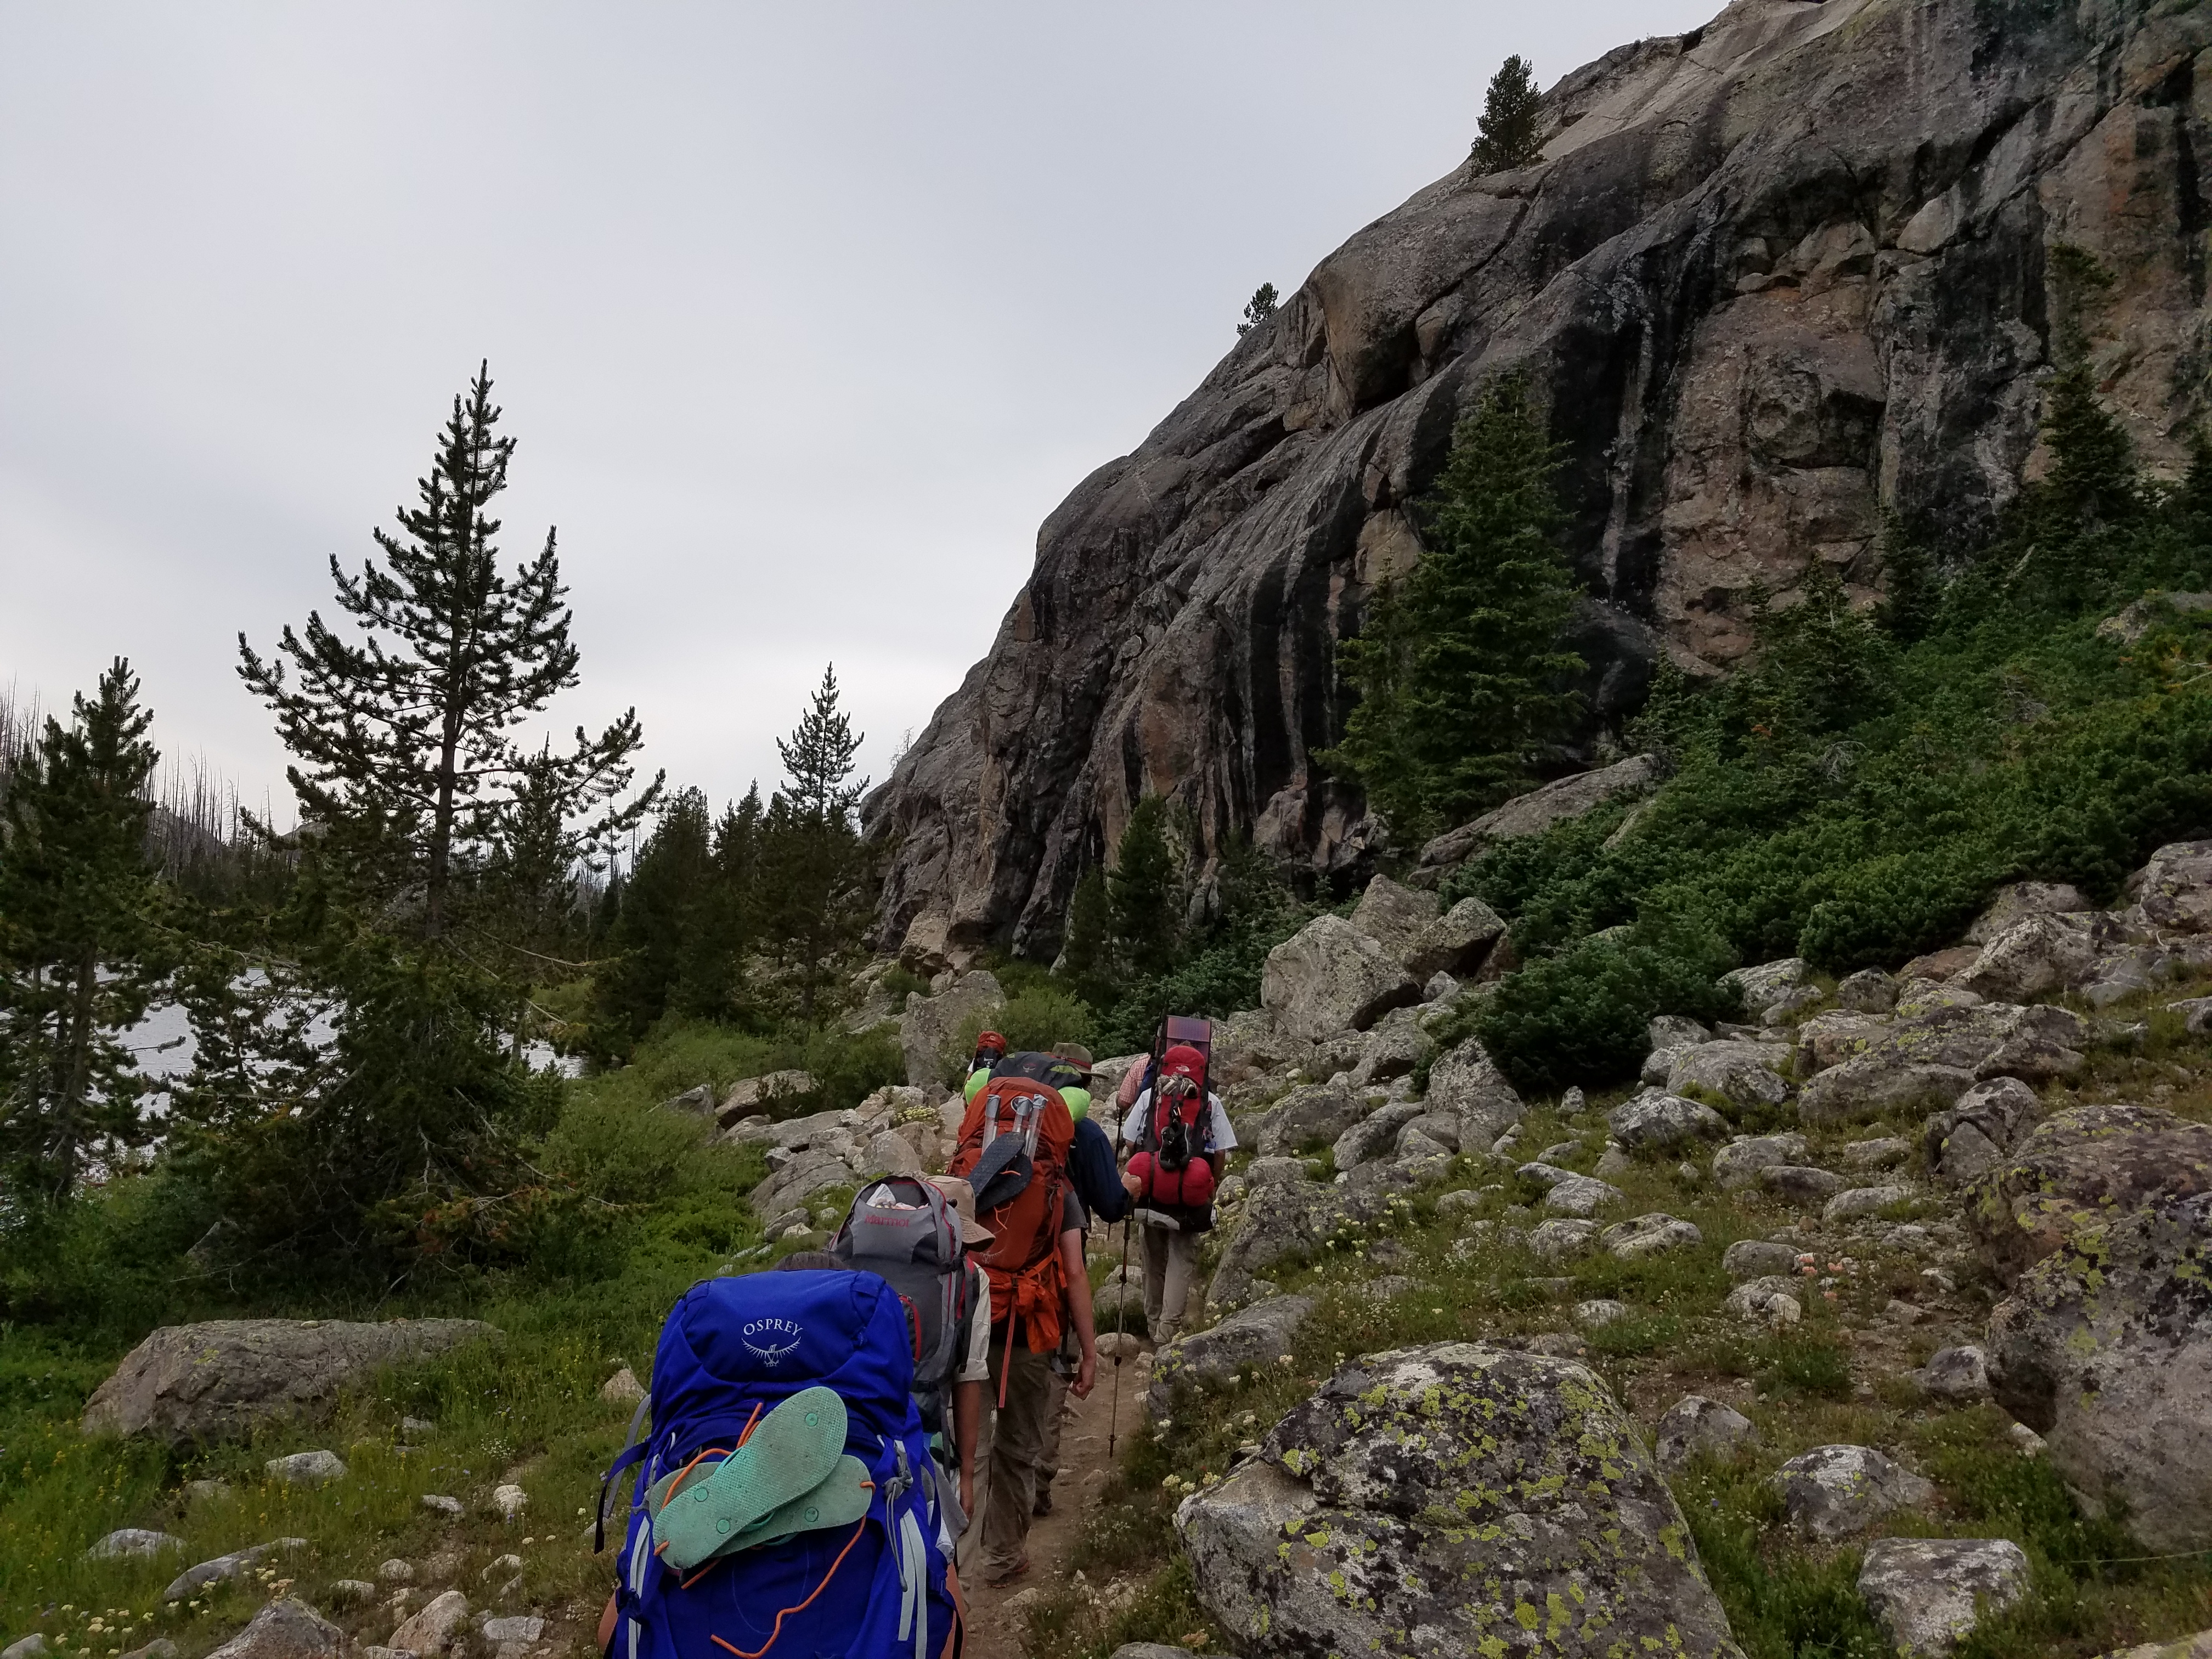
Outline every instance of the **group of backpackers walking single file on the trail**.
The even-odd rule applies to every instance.
[[[637,1467],[602,1650],[958,1655],[956,1559],[991,1586],[1029,1568],[1062,1405],[1097,1380],[1093,1219],[1135,1212],[1155,1340],[1181,1323],[1237,1144],[1208,1048],[1203,1020],[1168,1020],[1121,1079],[1124,1170],[1088,1113],[1091,1055],[987,1031],[947,1177],[874,1179],[827,1250],[692,1285],[608,1471]],[[602,1528],[604,1509],[602,1491]]]

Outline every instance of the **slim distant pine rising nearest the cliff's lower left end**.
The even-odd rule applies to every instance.
[[[799,1018],[836,960],[858,945],[874,900],[874,858],[854,810],[867,779],[852,781],[863,739],[838,708],[836,664],[792,737],[776,741],[787,783],[768,801],[761,832],[765,931],[799,975]]]

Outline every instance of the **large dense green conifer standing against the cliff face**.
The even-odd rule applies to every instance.
[[[1520,376],[1482,392],[1422,504],[1422,555],[1338,657],[1360,695],[1323,763],[1352,772],[1391,830],[1418,841],[1526,783],[1571,723],[1559,648],[1577,582],[1553,542],[1559,449]]]

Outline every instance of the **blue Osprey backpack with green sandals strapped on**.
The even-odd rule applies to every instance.
[[[741,1546],[748,1531],[741,1526],[726,1553],[672,1566],[668,1524],[655,1535],[657,1513],[672,1511],[679,1495],[706,1502],[701,1482],[757,1422],[792,1396],[823,1387],[845,1407],[845,1460],[865,1464],[872,1486],[852,1513],[863,1504],[867,1513],[750,1548]],[[608,1469],[613,1482],[637,1467],[617,1564],[611,1659],[945,1659],[958,1652],[951,1511],[942,1502],[949,1493],[938,1493],[940,1475],[911,1387],[911,1325],[898,1292],[876,1274],[763,1272],[692,1285],[661,1325],[653,1354],[646,1400],[653,1431]],[[792,1411],[810,1400],[792,1402]],[[604,1491],[599,1502],[604,1528]],[[803,1500],[779,1509],[776,1524],[750,1531],[805,1526],[799,1515],[812,1515]],[[675,1559],[686,1559],[684,1551],[675,1551]]]

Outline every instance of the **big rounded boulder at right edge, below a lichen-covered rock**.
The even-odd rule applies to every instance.
[[[2077,1223],[1989,1321],[1989,1387],[2146,1548],[2212,1548],[2212,1192]]]

